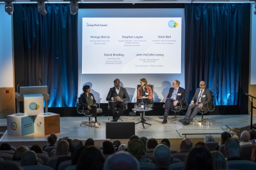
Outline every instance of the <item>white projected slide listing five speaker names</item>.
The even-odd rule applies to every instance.
[[[83,18],[82,74],[181,73],[181,28],[181,17]]]

